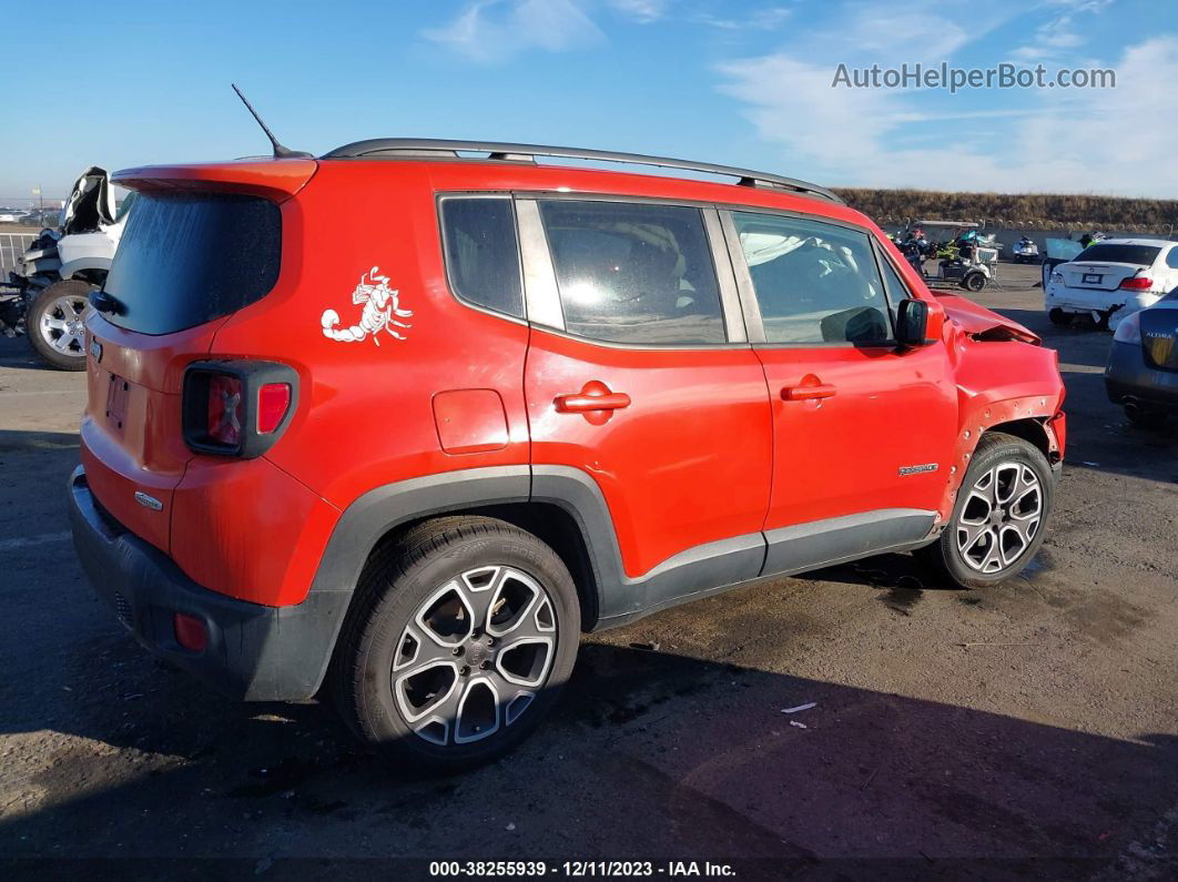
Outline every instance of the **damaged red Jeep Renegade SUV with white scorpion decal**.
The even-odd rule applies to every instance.
[[[581,631],[884,551],[982,588],[1043,542],[1055,353],[821,187],[404,139],[114,180],[74,541],[238,698],[326,683],[371,744],[468,767]]]

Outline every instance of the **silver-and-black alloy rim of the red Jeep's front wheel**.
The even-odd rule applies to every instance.
[[[1001,572],[1031,546],[1043,520],[1043,486],[1034,471],[1005,462],[979,477],[957,523],[957,548],[971,569]]]

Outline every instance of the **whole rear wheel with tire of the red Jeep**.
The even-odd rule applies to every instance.
[[[502,520],[411,529],[373,555],[353,603],[333,661],[336,705],[363,742],[410,769],[497,760],[573,672],[573,577],[552,549]]]

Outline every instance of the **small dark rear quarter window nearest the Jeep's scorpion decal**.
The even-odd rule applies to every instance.
[[[519,247],[510,197],[445,197],[442,240],[455,294],[523,318]]]

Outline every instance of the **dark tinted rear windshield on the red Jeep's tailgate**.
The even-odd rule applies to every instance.
[[[258,197],[141,193],[104,290],[107,319],[128,331],[172,333],[263,298],[278,280],[282,217]]]

